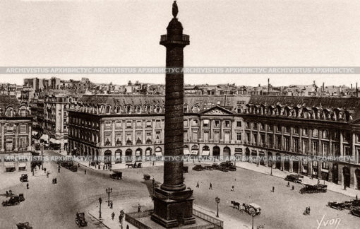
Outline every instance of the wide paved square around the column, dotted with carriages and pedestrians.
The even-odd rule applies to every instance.
[[[57,155],[51,151],[46,154]],[[83,166],[78,172],[71,172],[61,168],[57,172],[55,162],[47,162],[44,165],[50,171],[49,178],[43,171],[35,172],[32,177],[30,172],[30,189],[26,190],[25,183],[18,181],[20,173],[9,174],[14,182],[11,187],[1,186],[1,193],[11,189],[16,194],[24,193],[25,201],[18,206],[0,208],[0,228],[14,228],[16,222],[29,221],[34,228],[75,228],[75,216],[77,211],[85,211],[88,220],[88,228],[104,228],[88,211],[97,213],[98,197],[103,199],[102,208],[104,213],[107,209],[107,194],[105,189],[112,187],[112,199],[115,209],[126,209],[136,211],[138,201],[146,200],[149,192],[143,184],[143,173],[155,176],[157,181],[162,181],[162,166],[148,167],[142,169],[124,169],[123,180],[115,181],[108,177],[108,171],[95,171],[87,169],[84,175]],[[360,218],[349,215],[347,210],[337,211],[327,206],[328,201],[343,201],[350,197],[336,192],[325,194],[299,194],[301,184],[295,184],[295,190],[286,187],[287,182],[270,175],[263,175],[251,170],[238,168],[236,172],[221,172],[191,170],[185,175],[186,184],[194,189],[196,200],[194,204],[207,213],[216,213],[215,196],[219,196],[220,218],[225,221],[225,228],[249,228],[251,216],[233,209],[230,201],[240,203],[256,203],[262,207],[262,213],[255,218],[255,225],[264,224],[265,228],[318,228],[318,223],[340,218],[337,228],[356,228]],[[4,174],[1,174],[4,176]],[[52,184],[52,178],[57,177],[59,184]],[[199,181],[200,188],[196,188]],[[212,182],[212,190],[209,190],[209,183]],[[230,191],[232,185],[235,192]],[[270,192],[272,186],[275,192]],[[6,188],[3,188],[6,187]],[[1,196],[1,201],[5,197]],[[148,201],[149,202],[149,201]],[[130,206],[126,206],[130,203]],[[121,206],[119,206],[121,205]],[[124,208],[123,208],[124,206]],[[302,213],[306,206],[311,207],[311,216],[304,216]],[[150,209],[151,204],[146,204],[143,209]],[[117,210],[116,210],[117,213]],[[109,216],[104,216],[109,218]],[[117,218],[116,214],[116,218]],[[106,223],[106,220],[105,222]],[[116,225],[116,223],[114,224]],[[335,225],[320,226],[319,228],[335,228]]]

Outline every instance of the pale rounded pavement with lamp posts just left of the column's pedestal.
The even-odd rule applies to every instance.
[[[125,213],[131,213],[138,211],[138,204],[141,206],[141,210],[149,210],[153,209],[152,201],[150,198],[146,199],[127,199],[126,201],[116,200],[112,199],[113,201],[113,209],[110,209],[109,206],[107,206],[107,201],[102,201],[101,205],[101,215],[102,218],[99,218],[99,203],[97,203],[97,206],[92,206],[92,209],[88,210],[88,213],[92,218],[95,218],[97,221],[100,221],[103,225],[105,225],[107,228],[121,228],[121,224],[119,223],[119,215],[121,209],[124,210]],[[112,212],[115,213],[114,221],[112,220]],[[126,225],[130,229],[136,229],[135,226],[131,225],[130,223],[125,221],[125,218],[123,219],[123,228],[126,228]]]

